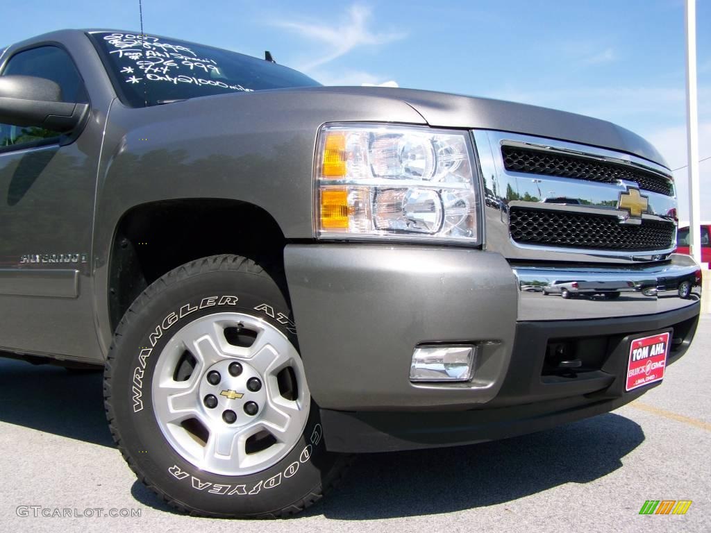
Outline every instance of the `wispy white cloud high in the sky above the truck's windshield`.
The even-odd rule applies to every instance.
[[[346,11],[346,16],[338,24],[324,24],[316,21],[277,21],[275,26],[298,33],[324,45],[328,53],[300,65],[299,70],[311,72],[314,69],[346,55],[360,46],[383,45],[405,37],[405,33],[373,33],[367,23],[371,10],[366,6],[353,4]]]

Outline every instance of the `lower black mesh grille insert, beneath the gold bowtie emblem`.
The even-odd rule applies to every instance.
[[[671,248],[674,237],[672,222],[627,225],[617,217],[523,208],[510,209],[509,228],[513,240],[522,244],[631,252]]]

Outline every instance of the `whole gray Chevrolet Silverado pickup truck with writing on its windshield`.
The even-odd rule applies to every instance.
[[[616,409],[695,333],[669,168],[608,122],[68,30],[4,50],[0,123],[2,355],[104,367],[117,446],[187,512]]]

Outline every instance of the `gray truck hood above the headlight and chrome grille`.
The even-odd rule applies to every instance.
[[[511,131],[623,151],[669,168],[651,143],[621,126],[581,114],[491,98],[392,87],[299,87],[323,92],[392,98],[409,104],[429,126]]]

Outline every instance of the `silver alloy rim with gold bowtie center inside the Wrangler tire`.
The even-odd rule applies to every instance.
[[[249,475],[278,463],[304,433],[304,366],[280,330],[245,313],[213,313],[169,340],[151,384],[156,421],[189,463]]]

